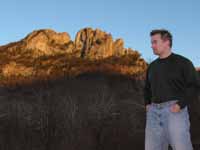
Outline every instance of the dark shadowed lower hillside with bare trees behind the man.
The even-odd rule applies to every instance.
[[[1,88],[0,149],[144,150],[142,88],[143,81],[98,73]]]

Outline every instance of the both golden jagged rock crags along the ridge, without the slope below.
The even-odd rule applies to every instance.
[[[29,52],[32,57],[68,53],[88,59],[102,59],[135,53],[130,48],[124,48],[122,39],[114,41],[111,34],[92,28],[80,30],[76,35],[75,42],[66,32],[57,33],[51,29],[36,30],[21,41],[1,46],[0,49],[18,54]]]

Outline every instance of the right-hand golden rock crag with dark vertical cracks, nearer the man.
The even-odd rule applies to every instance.
[[[134,53],[124,48],[122,39],[113,40],[112,35],[99,29],[85,28],[80,30],[75,39],[76,49],[81,57],[102,59],[110,56],[122,56]]]

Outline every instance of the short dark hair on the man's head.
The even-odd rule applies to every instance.
[[[162,40],[169,40],[169,46],[172,47],[172,34],[168,30],[155,29],[150,32],[150,36],[153,36],[155,34],[160,34]]]

